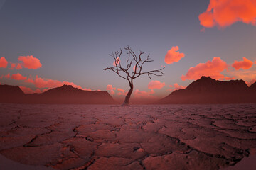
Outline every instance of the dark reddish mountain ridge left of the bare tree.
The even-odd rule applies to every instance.
[[[6,100],[7,96],[9,96],[8,100]],[[42,94],[24,94],[18,86],[0,85],[0,102],[41,104],[115,103],[114,99],[107,91],[84,91],[69,85],[53,88]]]

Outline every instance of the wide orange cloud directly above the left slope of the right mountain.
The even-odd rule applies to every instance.
[[[213,79],[225,79],[225,76],[220,73],[227,68],[228,65],[226,62],[221,60],[220,57],[214,57],[212,61],[199,63],[196,67],[191,67],[188,69],[185,76],[181,76],[181,79],[183,81],[186,79],[196,80],[200,79],[202,76],[211,77]]]

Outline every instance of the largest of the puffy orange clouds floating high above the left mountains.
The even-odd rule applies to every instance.
[[[38,69],[42,66],[40,60],[36,57],[33,57],[33,55],[20,56],[18,57],[18,60],[23,62],[23,66],[27,69]]]

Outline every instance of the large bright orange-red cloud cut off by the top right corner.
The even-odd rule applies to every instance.
[[[256,0],[210,0],[198,18],[207,28],[225,28],[238,21],[256,26]]]

